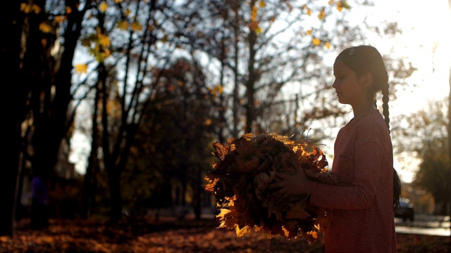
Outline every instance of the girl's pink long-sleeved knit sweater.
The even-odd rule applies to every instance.
[[[315,183],[310,204],[328,207],[326,252],[396,252],[393,147],[378,110],[338,132],[332,171],[340,185]]]

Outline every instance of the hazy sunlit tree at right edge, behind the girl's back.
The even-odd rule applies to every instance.
[[[451,188],[447,183],[450,160],[446,117],[446,103],[431,101],[428,108],[419,110],[414,115],[403,119],[403,135],[409,141],[404,141],[400,148],[407,153],[414,153],[419,160],[419,170],[416,171],[414,186],[431,193],[435,200],[435,214],[445,215],[450,205],[448,196]]]

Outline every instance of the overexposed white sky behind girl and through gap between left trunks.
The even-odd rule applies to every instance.
[[[407,60],[418,68],[414,77],[409,79],[409,84],[419,86],[413,91],[399,93],[399,99],[391,102],[390,115],[409,114],[422,108],[428,99],[447,96],[451,65],[451,15],[448,1],[377,0],[375,2],[376,6],[371,8],[359,9],[357,6],[352,6],[350,15],[366,16],[376,24],[385,21],[398,22],[402,35],[397,41],[375,38],[381,39],[381,43],[375,41],[374,45],[378,45],[376,47],[383,54],[389,54],[395,45],[394,53],[407,57]],[[77,143],[73,143],[73,148],[78,146],[80,150],[74,150],[70,161],[75,162],[75,169],[84,174],[89,141],[81,134],[76,140]],[[416,165],[415,160],[412,160],[411,164],[395,162],[401,179],[407,182],[412,181],[412,172],[416,169]]]

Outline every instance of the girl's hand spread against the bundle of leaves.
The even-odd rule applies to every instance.
[[[296,167],[295,174],[276,173],[276,177],[282,179],[278,183],[271,183],[269,188],[279,188],[269,195],[276,203],[283,203],[290,196],[310,194],[313,181],[307,178],[302,167]]]

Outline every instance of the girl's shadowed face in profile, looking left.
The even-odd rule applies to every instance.
[[[338,102],[353,107],[359,105],[359,100],[365,98],[366,91],[364,86],[359,84],[356,73],[344,63],[336,61],[333,65],[333,75],[335,81],[332,87],[337,93]]]

